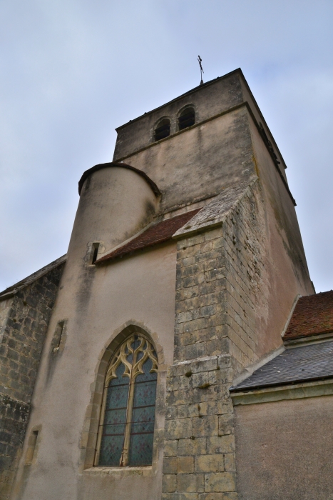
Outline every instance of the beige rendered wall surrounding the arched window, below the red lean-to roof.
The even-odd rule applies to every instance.
[[[37,428],[38,452],[33,464],[26,466],[21,461],[16,499],[159,497],[166,368],[173,361],[175,246],[168,244],[112,264],[91,266],[84,295],[81,290],[71,293],[71,281],[64,274],[61,286],[68,294],[59,293],[48,329],[24,456],[29,436]],[[66,341],[63,350],[53,354],[53,334],[62,319],[66,319]],[[98,368],[113,339],[130,324],[138,324],[150,334],[158,351],[155,459],[152,467],[130,471],[92,469],[87,453],[96,442],[88,442],[88,433],[91,419],[96,419],[93,404]]]

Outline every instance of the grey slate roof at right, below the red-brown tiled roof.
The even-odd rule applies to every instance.
[[[230,392],[333,378],[333,341],[286,349]]]

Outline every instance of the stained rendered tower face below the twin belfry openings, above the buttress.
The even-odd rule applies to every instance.
[[[160,209],[168,212],[255,176],[248,120],[242,107],[125,161],[153,179],[163,193]]]

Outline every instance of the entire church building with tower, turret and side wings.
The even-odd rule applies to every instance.
[[[333,291],[242,71],[117,134],[0,294],[0,499],[333,500]]]

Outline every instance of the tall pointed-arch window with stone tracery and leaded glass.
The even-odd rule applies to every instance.
[[[99,466],[143,466],[153,460],[158,360],[143,334],[125,340],[106,372]]]

